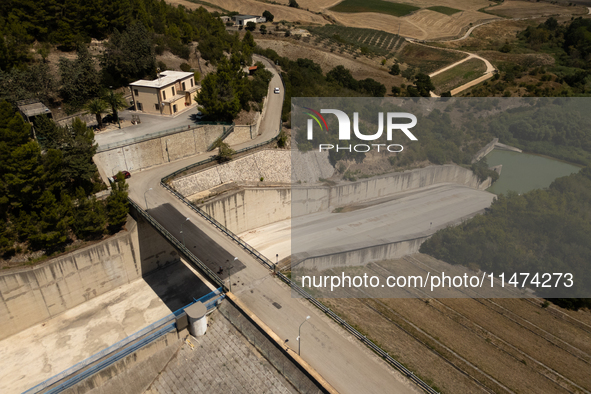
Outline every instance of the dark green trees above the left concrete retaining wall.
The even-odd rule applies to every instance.
[[[94,133],[80,119],[61,127],[38,121],[43,148],[14,107],[0,102],[0,255],[64,250],[75,240],[100,239],[124,225],[127,185],[119,174],[106,201],[92,161]]]

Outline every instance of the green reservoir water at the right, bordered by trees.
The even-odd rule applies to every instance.
[[[580,167],[547,157],[493,149],[486,155],[489,166],[503,165],[499,179],[487,189],[494,194],[519,194],[543,189],[556,178],[578,172]]]

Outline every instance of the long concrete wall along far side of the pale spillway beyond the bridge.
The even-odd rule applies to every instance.
[[[208,174],[215,174],[213,171],[206,171],[209,171]],[[256,179],[254,175],[252,177]],[[198,179],[208,178],[192,178],[193,181]],[[205,182],[201,182],[199,186],[188,190],[203,187]],[[432,166],[336,186],[241,186],[238,191],[221,194],[199,207],[232,232],[239,234],[291,217],[332,211],[338,207],[437,183],[456,183],[483,190],[490,186],[490,179],[481,183],[472,171],[456,165]]]

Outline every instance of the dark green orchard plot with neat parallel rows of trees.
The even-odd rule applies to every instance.
[[[306,29],[328,45],[345,47],[350,53],[362,49],[368,54],[388,56],[397,52],[404,43],[404,38],[379,30],[337,25],[309,26]]]

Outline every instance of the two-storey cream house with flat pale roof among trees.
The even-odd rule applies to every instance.
[[[192,72],[163,71],[153,81],[140,79],[129,84],[136,111],[155,115],[174,115],[197,103],[194,93],[199,92]]]

